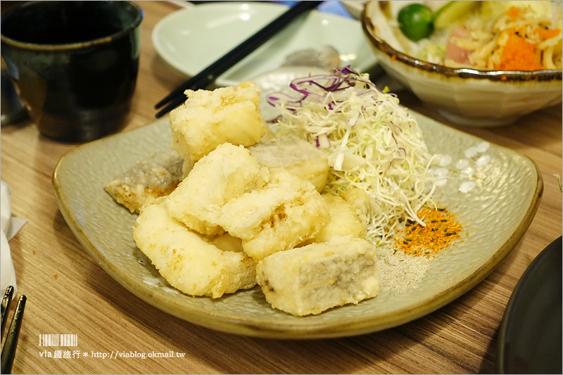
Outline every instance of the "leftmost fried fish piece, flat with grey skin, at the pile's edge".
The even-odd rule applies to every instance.
[[[104,188],[120,205],[131,212],[148,198],[170,194],[182,181],[184,160],[174,150],[153,153],[104,184]]]

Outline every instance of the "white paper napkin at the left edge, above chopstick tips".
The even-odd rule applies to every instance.
[[[0,270],[0,286],[1,296],[4,295],[8,286],[13,286],[15,293],[18,291],[18,286],[15,284],[15,271],[13,269],[12,255],[10,252],[10,245],[8,241],[12,239],[15,234],[20,231],[27,220],[20,219],[19,217],[12,216],[12,203],[10,198],[10,188],[6,182],[1,181],[1,194],[0,194],[0,210],[1,210],[1,270]]]

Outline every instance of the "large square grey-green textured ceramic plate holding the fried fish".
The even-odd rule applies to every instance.
[[[482,142],[414,115],[432,152],[457,160]],[[402,294],[381,292],[358,305],[293,317],[272,309],[258,287],[216,300],[179,293],[137,249],[132,238],[136,215],[116,204],[104,191],[103,182],[154,151],[167,149],[169,141],[165,118],[73,149],[61,158],[53,173],[59,208],[91,256],[139,298],[188,322],[249,336],[352,336],[422,317],[469,291],[510,253],[529,227],[543,191],[535,163],[510,149],[491,145],[486,151],[491,161],[475,169],[472,191],[462,193],[462,179],[455,176],[439,189],[439,200],[457,213],[469,235],[434,260],[418,288]]]

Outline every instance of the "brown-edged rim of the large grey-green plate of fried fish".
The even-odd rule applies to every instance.
[[[463,136],[469,137],[474,140],[480,140],[477,136],[472,134],[467,134],[452,127],[447,127],[441,122],[438,122],[431,117],[422,115],[415,112],[414,110],[407,109],[410,113],[413,113],[420,117],[425,117],[426,119],[434,122],[436,125],[448,128],[450,131],[463,134]],[[514,228],[512,235],[508,236],[505,243],[500,246],[498,250],[484,262],[481,267],[476,269],[472,274],[466,277],[464,280],[458,282],[457,284],[447,288],[440,293],[436,293],[429,298],[424,300],[424,303],[419,303],[416,307],[406,307],[398,311],[388,312],[383,316],[379,315],[377,317],[346,317],[337,318],[331,320],[324,320],[319,322],[308,322],[308,324],[293,324],[284,323],[282,324],[272,324],[271,320],[267,319],[233,319],[232,317],[222,316],[221,314],[211,313],[204,309],[190,309],[189,311],[183,310],[182,313],[174,311],[172,309],[173,304],[169,304],[167,301],[160,298],[159,295],[153,295],[151,291],[139,288],[142,281],[138,281],[129,275],[124,274],[117,266],[115,266],[110,260],[105,256],[103,251],[96,247],[96,245],[91,241],[91,239],[84,233],[77,217],[72,214],[72,210],[68,207],[67,199],[65,199],[65,193],[63,191],[63,186],[61,186],[58,180],[58,173],[63,169],[66,160],[72,158],[75,153],[80,153],[86,148],[90,148],[100,144],[101,142],[108,141],[108,139],[117,139],[120,137],[125,137],[130,134],[130,132],[141,132],[142,129],[149,126],[163,126],[164,122],[167,123],[168,118],[156,120],[151,122],[144,127],[139,127],[137,129],[132,129],[128,132],[122,132],[118,134],[113,134],[106,136],[103,139],[89,142],[88,144],[82,144],[76,148],[72,148],[70,151],[65,153],[58,160],[55,169],[52,174],[52,185],[53,191],[58,203],[59,210],[63,215],[65,221],[68,223],[71,231],[75,234],[77,239],[80,241],[82,246],[87,250],[88,253],[98,262],[98,264],[106,271],[110,276],[118,281],[127,290],[132,292],[137,297],[144,300],[146,303],[157,307],[172,316],[178,317],[190,322],[192,324],[197,324],[199,326],[205,326],[210,329],[215,329],[217,331],[223,331],[226,333],[236,333],[243,336],[255,336],[262,338],[336,338],[345,336],[357,336],[365,333],[372,333],[374,331],[382,331],[384,329],[392,328],[394,326],[399,326],[412,320],[423,317],[426,314],[434,312],[439,308],[447,305],[453,300],[459,298],[467,291],[471,290],[479,284],[483,279],[485,279],[488,274],[493,272],[493,270],[500,265],[500,262],[504,260],[508,254],[514,249],[518,241],[524,236],[524,233],[531,224],[533,217],[536,215],[538,206],[540,203],[540,198],[543,193],[543,177],[540,173],[538,165],[529,158],[527,155],[518,153],[517,151],[507,148],[505,146],[496,145],[499,148],[505,150],[505,152],[511,153],[512,155],[518,155],[524,158],[526,161],[531,163],[536,172],[536,189],[531,196],[531,201],[529,206],[526,208],[525,215],[521,218],[517,227]],[[122,276],[118,275],[119,273]],[[377,322],[376,322],[377,321]]]

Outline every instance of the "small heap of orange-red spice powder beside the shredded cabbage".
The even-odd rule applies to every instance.
[[[395,236],[396,250],[403,250],[408,255],[435,258],[441,250],[461,238],[462,225],[445,208],[422,208],[418,215],[426,227],[407,220],[400,234]]]

